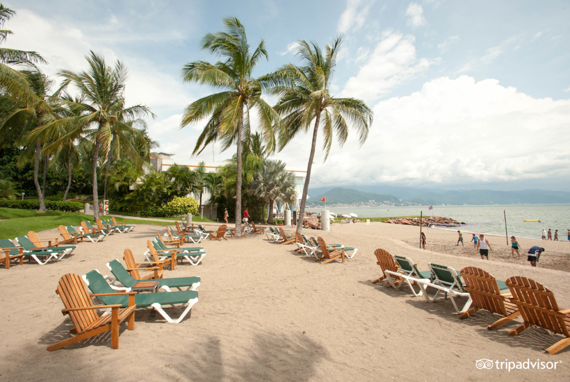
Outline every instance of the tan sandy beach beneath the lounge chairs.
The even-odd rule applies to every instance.
[[[165,277],[201,276],[200,301],[180,324],[165,323],[153,310],[136,311],[135,330],[121,325],[120,348],[104,334],[49,352],[68,336],[56,284],[66,273],[92,269],[109,274],[105,263],[122,261],[130,248],[143,261],[146,240],[164,226],[137,225],[102,243],[81,243],[71,256],[39,266],[0,269],[4,313],[0,381],[567,381],[570,347],[557,355],[543,349],[560,335],[529,328],[507,331],[522,320],[489,331],[499,317],[479,311],[461,320],[449,299],[427,303],[380,277],[373,252],[384,248],[412,258],[420,270],[436,262],[460,270],[478,266],[499,280],[526,276],[541,282],[561,308],[570,308],[570,243],[519,240],[521,258],[511,259],[504,237],[487,237],[494,249],[481,260],[469,236],[456,247],[457,232],[430,230],[426,250],[418,248],[418,227],[372,223],[332,225],[332,232],[308,231],[329,243],[358,248],[353,259],[319,264],[265,235],[202,241],[207,256],[198,266],[178,266]],[[286,227],[286,232],[293,231]],[[55,237],[45,231],[40,237]],[[531,245],[546,248],[538,268],[526,261]],[[515,255],[516,256],[516,255]],[[465,300],[462,300],[462,302]],[[170,309],[172,311],[172,309]],[[173,313],[177,315],[178,312]],[[479,359],[558,362],[556,369],[477,369]]]

